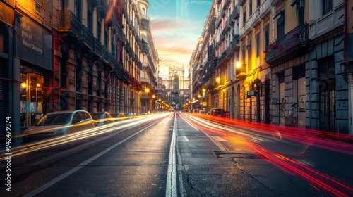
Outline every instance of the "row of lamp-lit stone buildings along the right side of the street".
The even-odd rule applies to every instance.
[[[208,110],[239,120],[352,134],[350,8],[345,0],[213,1],[191,56],[190,99],[205,89]]]

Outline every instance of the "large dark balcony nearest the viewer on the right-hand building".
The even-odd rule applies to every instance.
[[[304,53],[309,47],[307,23],[301,24],[292,31],[270,44],[265,51],[266,63],[277,65]]]

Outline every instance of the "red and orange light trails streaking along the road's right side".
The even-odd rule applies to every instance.
[[[280,153],[275,153],[274,151],[270,151],[267,148],[264,148],[263,146],[261,146],[261,144],[258,144],[253,141],[253,139],[257,139],[257,138],[249,137],[249,134],[244,135],[241,132],[235,131],[236,127],[239,127],[239,125],[241,125],[241,128],[246,129],[249,132],[254,132],[254,134],[261,133],[266,135],[273,135],[274,131],[269,130],[268,126],[266,127],[256,126],[256,128],[254,128],[254,125],[246,124],[245,122],[242,122],[242,124],[235,125],[233,120],[225,120],[224,118],[220,119],[223,122],[225,122],[225,124],[232,123],[233,125],[233,128],[232,128],[232,127],[225,127],[222,125],[216,126],[215,124],[205,121],[194,115],[185,114],[183,115],[183,117],[189,120],[190,122],[193,122],[193,125],[195,127],[198,127],[199,129],[202,129],[204,132],[207,132],[207,133],[214,133],[220,136],[232,136],[232,134],[229,134],[226,132],[239,134],[237,136],[237,140],[238,140],[237,143],[242,143],[244,144],[244,146],[249,147],[251,152],[258,155],[259,158],[265,159],[268,163],[271,163],[272,165],[280,168],[281,170],[287,172],[288,174],[292,174],[293,176],[298,176],[298,177],[301,177],[302,179],[305,179],[309,185],[311,185],[313,188],[317,189],[318,191],[326,191],[327,193],[330,193],[330,195],[333,195],[333,196],[347,196],[347,197],[353,196],[352,185],[342,182],[338,179],[335,179],[334,177],[330,177],[328,174],[319,172],[318,170],[315,170],[312,165],[304,165],[302,162],[292,160],[291,158],[288,158],[285,155],[282,155]],[[208,116],[207,119],[210,119],[210,117]],[[221,122],[220,120],[217,119],[217,117],[212,117],[212,119],[215,119]],[[264,131],[261,131],[261,129],[264,129]],[[334,150],[340,153],[347,153],[348,155],[353,154],[352,144],[342,144],[341,142],[337,142],[337,141],[315,139],[313,137],[303,136],[302,134],[297,134],[297,133],[291,134],[287,131],[282,131],[280,129],[277,129],[275,132],[278,132],[277,136],[280,136],[280,139],[289,139],[292,141],[297,141],[300,144],[306,144],[309,146],[315,145],[320,148]],[[278,139],[276,139],[276,141],[277,140]],[[345,150],[342,150],[342,149],[345,149]]]

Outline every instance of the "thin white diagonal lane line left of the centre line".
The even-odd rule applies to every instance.
[[[156,122],[157,123],[157,122]],[[156,123],[152,124],[155,125]],[[152,127],[152,125],[145,127],[145,129],[148,129],[149,127]],[[68,172],[61,174],[59,177],[56,177],[55,179],[52,179],[52,181],[47,182],[47,184],[44,184],[42,186],[40,186],[39,188],[31,191],[30,193],[26,194],[24,197],[27,196],[35,196],[38,193],[48,189],[50,186],[53,186],[54,184],[56,184],[57,182],[60,182],[62,179],[65,179],[66,177],[70,176],[71,174],[73,174],[74,172],[80,170],[82,167],[84,167],[85,165],[88,165],[89,163],[91,163],[93,160],[99,158],[100,156],[104,155],[105,153],[111,151],[113,148],[115,148],[116,146],[119,146],[120,144],[124,143],[125,141],[127,141],[128,139],[131,139],[131,137],[136,136],[136,134],[139,134],[140,132],[143,132],[145,129],[141,129],[140,131],[136,132],[135,134],[132,134],[131,136],[128,136],[126,139],[119,141],[118,143],[114,144],[113,146],[110,146],[109,148],[105,149],[104,151],[98,153],[97,155],[93,156],[92,158],[89,158],[88,160],[85,160],[83,163],[80,163],[78,166],[74,167],[71,170],[68,170]]]

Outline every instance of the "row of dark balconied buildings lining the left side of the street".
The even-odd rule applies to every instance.
[[[53,111],[152,108],[152,98],[142,99],[157,85],[148,1],[6,0],[0,6],[1,117],[11,117],[13,135]]]

